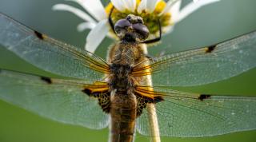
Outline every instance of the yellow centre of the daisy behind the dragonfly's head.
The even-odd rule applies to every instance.
[[[165,29],[167,26],[173,25],[173,23],[171,22],[171,14],[170,13],[162,14],[160,16],[158,15],[166,7],[166,2],[164,2],[163,0],[158,2],[157,6],[155,7],[155,9],[152,13],[149,13],[146,10],[142,10],[141,13],[138,13],[137,8],[138,8],[138,5],[140,2],[141,2],[141,0],[137,0],[136,9],[134,10],[134,12],[131,12],[130,10],[124,10],[121,12],[114,8],[112,15],[111,15],[113,22],[115,23],[119,19],[126,18],[126,16],[128,14],[134,14],[134,15],[140,16],[143,19],[144,24],[150,30],[151,37],[158,36],[158,32],[159,32],[158,19],[161,22],[163,33],[165,32]],[[113,4],[110,2],[105,7],[106,14],[110,14],[110,10],[112,9],[112,7],[113,7]]]

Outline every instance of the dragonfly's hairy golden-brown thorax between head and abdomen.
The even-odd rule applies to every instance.
[[[132,92],[137,81],[130,77],[130,73],[138,63],[145,60],[142,46],[136,43],[120,42],[111,47],[109,53],[111,77],[109,80],[110,89],[117,92]]]

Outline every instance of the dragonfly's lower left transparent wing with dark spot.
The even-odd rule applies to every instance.
[[[109,116],[97,98],[82,92],[91,84],[1,70],[0,99],[62,123],[106,128]]]

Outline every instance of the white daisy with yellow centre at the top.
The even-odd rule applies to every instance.
[[[182,0],[169,0],[168,2],[163,0],[111,0],[105,8],[100,0],[67,1],[77,2],[88,14],[66,4],[54,5],[53,10],[70,11],[85,21],[78,25],[78,31],[90,29],[90,33],[86,37],[85,49],[94,53],[106,35],[114,38],[108,23],[108,14],[112,6],[114,6],[112,14],[114,22],[117,22],[120,18],[126,18],[128,14],[139,15],[145,21],[145,25],[148,26],[150,36],[154,37],[158,34],[158,24],[155,24],[158,19],[162,24],[163,33],[166,33],[171,31],[174,24],[182,21],[195,10],[220,0],[194,0],[183,7],[182,10],[180,10]]]

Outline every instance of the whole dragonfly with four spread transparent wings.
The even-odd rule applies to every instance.
[[[256,97],[172,89],[222,81],[254,69],[256,32],[147,57],[142,45],[157,40],[147,39],[141,18],[130,15],[110,25],[120,41],[104,61],[0,14],[2,48],[65,77],[1,69],[0,98],[62,123],[94,129],[110,126],[111,141],[132,141],[135,131],[150,136],[148,105],[156,108],[160,136],[216,136],[256,128]],[[153,85],[145,85],[145,77],[151,77]]]

